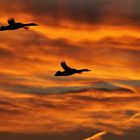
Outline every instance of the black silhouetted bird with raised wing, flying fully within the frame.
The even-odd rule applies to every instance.
[[[57,71],[55,76],[69,76],[76,73],[80,74],[82,72],[90,71],[88,69],[77,70],[77,69],[70,68],[65,62],[61,62],[61,66],[64,69],[64,71]]]

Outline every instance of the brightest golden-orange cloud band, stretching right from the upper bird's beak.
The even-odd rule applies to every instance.
[[[37,32],[44,34],[45,36],[49,36],[50,38],[65,38],[74,42],[81,40],[89,40],[89,41],[98,41],[104,39],[105,37],[119,38],[124,36],[135,36],[136,38],[140,38],[139,30],[131,29],[129,27],[111,27],[111,26],[97,26],[94,27],[48,27],[42,26],[36,29]],[[57,32],[56,32],[57,31]]]

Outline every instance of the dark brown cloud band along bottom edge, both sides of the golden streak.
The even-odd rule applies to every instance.
[[[41,135],[36,135],[36,134],[23,134],[23,133],[6,133],[3,132],[0,134],[0,138],[4,139],[4,140],[46,140],[46,139],[53,139],[53,140],[83,140],[86,137],[90,137],[93,135],[93,133],[97,133],[97,131],[95,130],[95,132],[93,130],[90,131],[76,131],[76,132],[71,132],[71,133],[67,133],[65,135],[47,135],[47,134],[41,134]],[[129,131],[128,134],[122,136],[118,136],[118,135],[113,135],[113,134],[106,134],[103,138],[103,140],[133,140],[135,138],[135,140],[139,140],[139,129],[134,129]]]

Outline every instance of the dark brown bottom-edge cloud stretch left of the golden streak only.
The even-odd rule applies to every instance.
[[[4,140],[81,140],[85,137],[93,135],[93,133],[97,133],[96,130],[89,130],[88,132],[85,130],[77,130],[65,134],[24,134],[24,133],[0,133],[0,138]]]

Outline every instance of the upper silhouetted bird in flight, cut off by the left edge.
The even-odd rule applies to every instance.
[[[28,29],[28,26],[37,26],[38,24],[35,23],[20,23],[20,22],[15,22],[15,19],[11,18],[8,20],[8,24],[7,26],[1,26],[0,27],[0,31],[6,31],[6,30],[16,30],[19,28],[24,28],[24,29]]]

